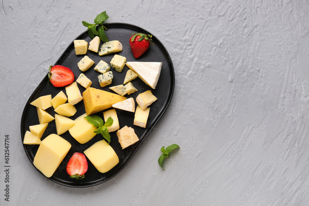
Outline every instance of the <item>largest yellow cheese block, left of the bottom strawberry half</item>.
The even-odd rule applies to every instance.
[[[42,140],[33,164],[46,177],[51,177],[70,148],[68,141],[57,134],[51,134]]]

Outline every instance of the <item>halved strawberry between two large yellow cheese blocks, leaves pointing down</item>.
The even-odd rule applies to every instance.
[[[88,170],[88,163],[83,153],[75,152],[66,165],[66,172],[72,179],[83,179]]]

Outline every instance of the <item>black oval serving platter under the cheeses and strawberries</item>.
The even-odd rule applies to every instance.
[[[84,73],[91,81],[92,85],[91,87],[102,89],[105,91],[109,91],[114,93],[112,90],[109,89],[111,86],[116,86],[123,84],[125,74],[127,70],[129,69],[127,66],[122,70],[121,73],[116,72],[114,69],[111,69],[111,71],[114,74],[112,84],[100,87],[98,82],[98,75],[99,72],[95,71],[93,68],[95,65],[99,63],[100,60],[103,60],[107,62],[110,65],[110,61],[112,60],[112,57],[115,54],[119,54],[121,56],[126,57],[127,61],[149,61],[149,62],[162,62],[162,68],[161,68],[161,74],[159,77],[158,84],[156,86],[156,89],[150,88],[150,86],[146,85],[141,79],[136,78],[132,81],[133,85],[138,89],[137,92],[131,94],[131,95],[125,95],[125,97],[130,98],[133,97],[135,100],[137,95],[146,91],[151,90],[152,93],[158,98],[156,102],[154,102],[152,105],[150,105],[150,113],[147,121],[146,128],[141,128],[138,126],[133,125],[134,120],[134,113],[129,111],[123,111],[116,109],[118,120],[120,124],[120,128],[127,125],[128,127],[132,127],[139,137],[139,141],[125,149],[121,149],[120,143],[118,142],[118,137],[115,132],[111,132],[111,143],[110,145],[115,150],[116,154],[119,158],[119,163],[112,168],[112,170],[106,172],[106,173],[100,173],[87,159],[88,161],[88,171],[85,174],[84,179],[76,180],[69,178],[69,175],[66,173],[66,164],[69,161],[70,157],[73,155],[74,152],[81,152],[87,148],[89,148],[91,145],[93,145],[95,142],[100,141],[103,139],[101,134],[97,134],[95,137],[93,137],[90,141],[88,141],[85,144],[79,144],[67,131],[64,134],[60,135],[62,138],[66,139],[70,142],[72,145],[71,149],[67,153],[66,157],[61,162],[60,166],[57,168],[57,170],[54,172],[54,174],[47,178],[55,183],[58,183],[60,185],[68,186],[68,187],[90,187],[95,186],[100,183],[104,183],[108,181],[109,179],[113,178],[116,174],[118,174],[125,165],[129,162],[129,160],[132,158],[133,154],[136,152],[136,150],[141,146],[141,143],[148,137],[150,137],[150,132],[155,132],[159,128],[155,128],[155,124],[158,122],[160,117],[163,115],[164,111],[168,107],[173,91],[174,91],[174,84],[175,84],[175,74],[174,74],[174,68],[171,61],[171,58],[166,50],[166,48],[163,46],[163,44],[155,37],[152,36],[152,42],[154,45],[150,45],[150,48],[144,53],[141,57],[138,59],[135,59],[133,57],[133,53],[131,51],[131,48],[129,46],[129,39],[130,39],[130,33],[145,33],[145,34],[151,34],[150,32],[144,30],[141,27],[128,24],[128,23],[106,23],[104,24],[105,27],[108,28],[108,31],[105,31],[106,36],[109,38],[109,40],[119,40],[123,46],[123,50],[118,53],[111,53],[105,56],[99,56],[98,53],[92,52],[90,50],[87,51],[87,55],[89,58],[91,58],[95,64],[88,69],[85,72],[82,72],[78,69],[77,63],[85,56],[85,55],[76,55],[74,50],[74,43],[72,43],[66,48],[64,53],[61,55],[61,57],[57,60],[55,65],[63,65],[68,68],[70,68],[74,73],[74,81],[78,78],[79,74]],[[87,35],[88,32],[83,32],[81,35],[79,35],[76,39],[77,40],[86,40],[88,42],[91,41],[91,38]],[[101,41],[100,47],[104,42]],[[99,47],[99,51],[100,51]],[[23,138],[25,135],[25,132],[29,130],[29,126],[39,124],[39,119],[37,116],[36,107],[30,105],[30,103],[35,100],[36,98],[43,96],[43,95],[52,95],[52,98],[57,95],[61,90],[66,94],[65,87],[54,87],[53,85],[48,85],[48,68],[42,68],[46,70],[46,76],[42,80],[42,82],[39,84],[39,86],[36,88],[36,90],[33,92],[33,94],[30,96],[24,110],[23,115],[21,118],[21,139],[23,142]],[[81,93],[85,90],[85,88],[78,84],[78,88],[81,91]],[[116,93],[115,93],[116,94]],[[83,101],[77,103],[74,105],[77,109],[77,112],[74,116],[69,117],[72,120],[75,120],[77,117],[83,115],[85,113],[85,108]],[[135,102],[135,107],[137,107],[137,103]],[[55,115],[55,111],[53,107],[49,107],[46,109],[49,114],[52,116]],[[96,113],[96,115],[100,116],[103,119],[103,111]],[[57,134],[56,132],[56,124],[55,120],[49,122],[49,125],[47,129],[45,130],[41,140],[43,140],[45,137],[47,137],[49,134]],[[147,137],[148,135],[148,137]],[[30,162],[33,164],[33,159],[36,155],[36,151],[39,148],[39,145],[24,145],[23,147],[25,149],[25,152],[30,160]],[[42,174],[39,170],[38,172]],[[43,175],[43,174],[42,174]],[[44,175],[43,175],[44,176]],[[45,177],[45,176],[44,176]]]

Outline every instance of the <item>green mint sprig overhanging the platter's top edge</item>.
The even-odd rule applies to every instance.
[[[108,31],[106,27],[104,27],[103,22],[108,19],[108,15],[106,14],[106,11],[103,11],[101,14],[97,15],[95,17],[95,23],[91,24],[86,21],[82,21],[83,25],[85,27],[88,27],[88,35],[93,39],[95,38],[95,35],[98,35],[101,41],[109,42],[107,36],[105,35],[104,29]],[[98,27],[98,31],[97,29]]]

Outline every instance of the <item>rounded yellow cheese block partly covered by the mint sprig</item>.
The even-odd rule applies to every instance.
[[[82,116],[79,116],[74,120],[74,125],[69,129],[70,134],[76,141],[78,141],[80,144],[84,144],[87,141],[91,140],[92,137],[96,135],[95,130],[97,130],[97,127],[90,124],[86,118],[86,114],[83,114]]]

